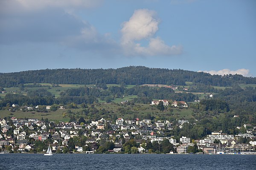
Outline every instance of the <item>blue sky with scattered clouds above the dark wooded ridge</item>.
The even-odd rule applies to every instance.
[[[149,68],[256,77],[256,0],[0,0],[0,73]]]

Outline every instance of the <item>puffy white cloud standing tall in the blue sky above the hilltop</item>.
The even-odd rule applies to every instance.
[[[131,56],[170,56],[182,53],[181,46],[166,45],[160,37],[154,38],[160,23],[157,13],[148,9],[134,11],[129,21],[122,24],[121,45],[126,55]],[[144,47],[139,40],[147,40],[148,46]]]

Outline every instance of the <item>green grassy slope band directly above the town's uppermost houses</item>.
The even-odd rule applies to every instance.
[[[90,105],[89,105],[90,107]],[[136,114],[136,117],[144,116],[148,113],[151,114],[151,116],[154,116],[157,120],[161,119],[168,119],[170,116],[175,117],[176,119],[189,119],[192,118],[192,109],[189,108],[167,108],[165,111],[159,111],[156,107],[152,105],[143,105],[143,104],[135,104],[133,106],[128,105],[120,105],[120,104],[99,104],[96,105],[95,108],[98,110],[105,109],[109,111],[110,115],[116,114],[117,117],[122,117],[123,119],[133,119],[134,114]],[[79,111],[83,110],[82,108],[79,109],[70,109],[74,115],[76,116],[84,116],[80,115]],[[0,111],[0,118],[3,119],[6,116],[14,116],[18,119],[23,118],[34,118],[34,119],[40,119],[47,118],[51,121],[64,121],[68,122],[69,117],[63,117],[62,113],[67,111],[67,109],[58,109],[57,111],[49,111],[48,113],[41,113],[36,111],[29,111],[29,112],[23,112],[23,111]],[[128,113],[127,113],[128,112]],[[99,115],[99,117],[103,117],[104,115]],[[84,117],[87,119],[87,117]]]

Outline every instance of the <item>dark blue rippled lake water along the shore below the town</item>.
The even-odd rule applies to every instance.
[[[0,154],[0,170],[255,170],[256,155]]]

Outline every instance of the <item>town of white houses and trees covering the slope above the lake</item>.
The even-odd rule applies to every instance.
[[[168,101],[152,101],[152,105]],[[177,105],[173,102],[172,105]],[[179,102],[187,107],[186,102]],[[238,115],[235,115],[238,116]],[[234,116],[234,117],[235,117]],[[53,153],[256,153],[256,127],[244,124],[247,133],[230,135],[212,132],[204,139],[172,136],[169,130],[182,129],[189,120],[180,119],[174,125],[169,120],[131,119],[116,121],[99,119],[51,122],[48,119],[0,119],[0,150],[2,153],[43,153],[48,145]],[[193,124],[196,124],[195,122]]]

